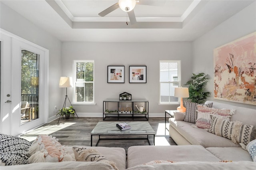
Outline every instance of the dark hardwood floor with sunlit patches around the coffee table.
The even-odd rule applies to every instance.
[[[62,145],[66,146],[90,146],[91,145],[91,135],[90,132],[95,127],[95,125],[102,121],[101,117],[79,117],[66,119],[58,119],[45,124],[39,128],[31,130],[20,137],[26,138],[29,141],[35,140],[36,136],[40,134],[48,134],[58,138],[58,141]],[[128,121],[120,121],[128,122]],[[155,145],[176,145],[176,143],[170,138],[168,130],[164,126],[164,118],[149,118],[148,121],[151,127],[156,132]],[[58,124],[57,124],[58,123]],[[169,128],[169,124],[166,124]],[[118,136],[113,136],[113,138],[118,138]],[[136,136],[137,137],[137,136]],[[145,138],[145,136],[141,136]],[[102,137],[101,137],[102,138]],[[153,137],[149,136],[151,144],[153,144]],[[98,136],[93,136],[93,146],[95,146],[98,140]],[[145,139],[139,140],[100,140],[98,146],[108,146],[108,147],[122,147],[127,150],[128,147],[134,145],[148,145],[148,141]]]

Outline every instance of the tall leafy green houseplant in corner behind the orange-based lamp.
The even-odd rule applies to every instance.
[[[194,103],[204,103],[210,96],[210,92],[205,90],[205,87],[210,79],[208,74],[194,74],[191,79],[184,85],[188,85],[189,98]]]

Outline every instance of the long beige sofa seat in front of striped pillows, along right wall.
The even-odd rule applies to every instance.
[[[177,130],[188,142],[194,145],[202,145],[207,147],[240,147],[239,144],[234,144],[231,140],[217,136],[202,128],[194,128],[184,121],[175,121],[174,118],[169,119],[170,125]]]

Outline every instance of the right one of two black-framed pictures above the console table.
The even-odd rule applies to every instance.
[[[147,83],[147,66],[129,66],[129,83]]]

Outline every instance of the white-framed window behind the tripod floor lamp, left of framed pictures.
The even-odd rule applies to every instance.
[[[94,103],[94,61],[74,60],[73,103]]]

